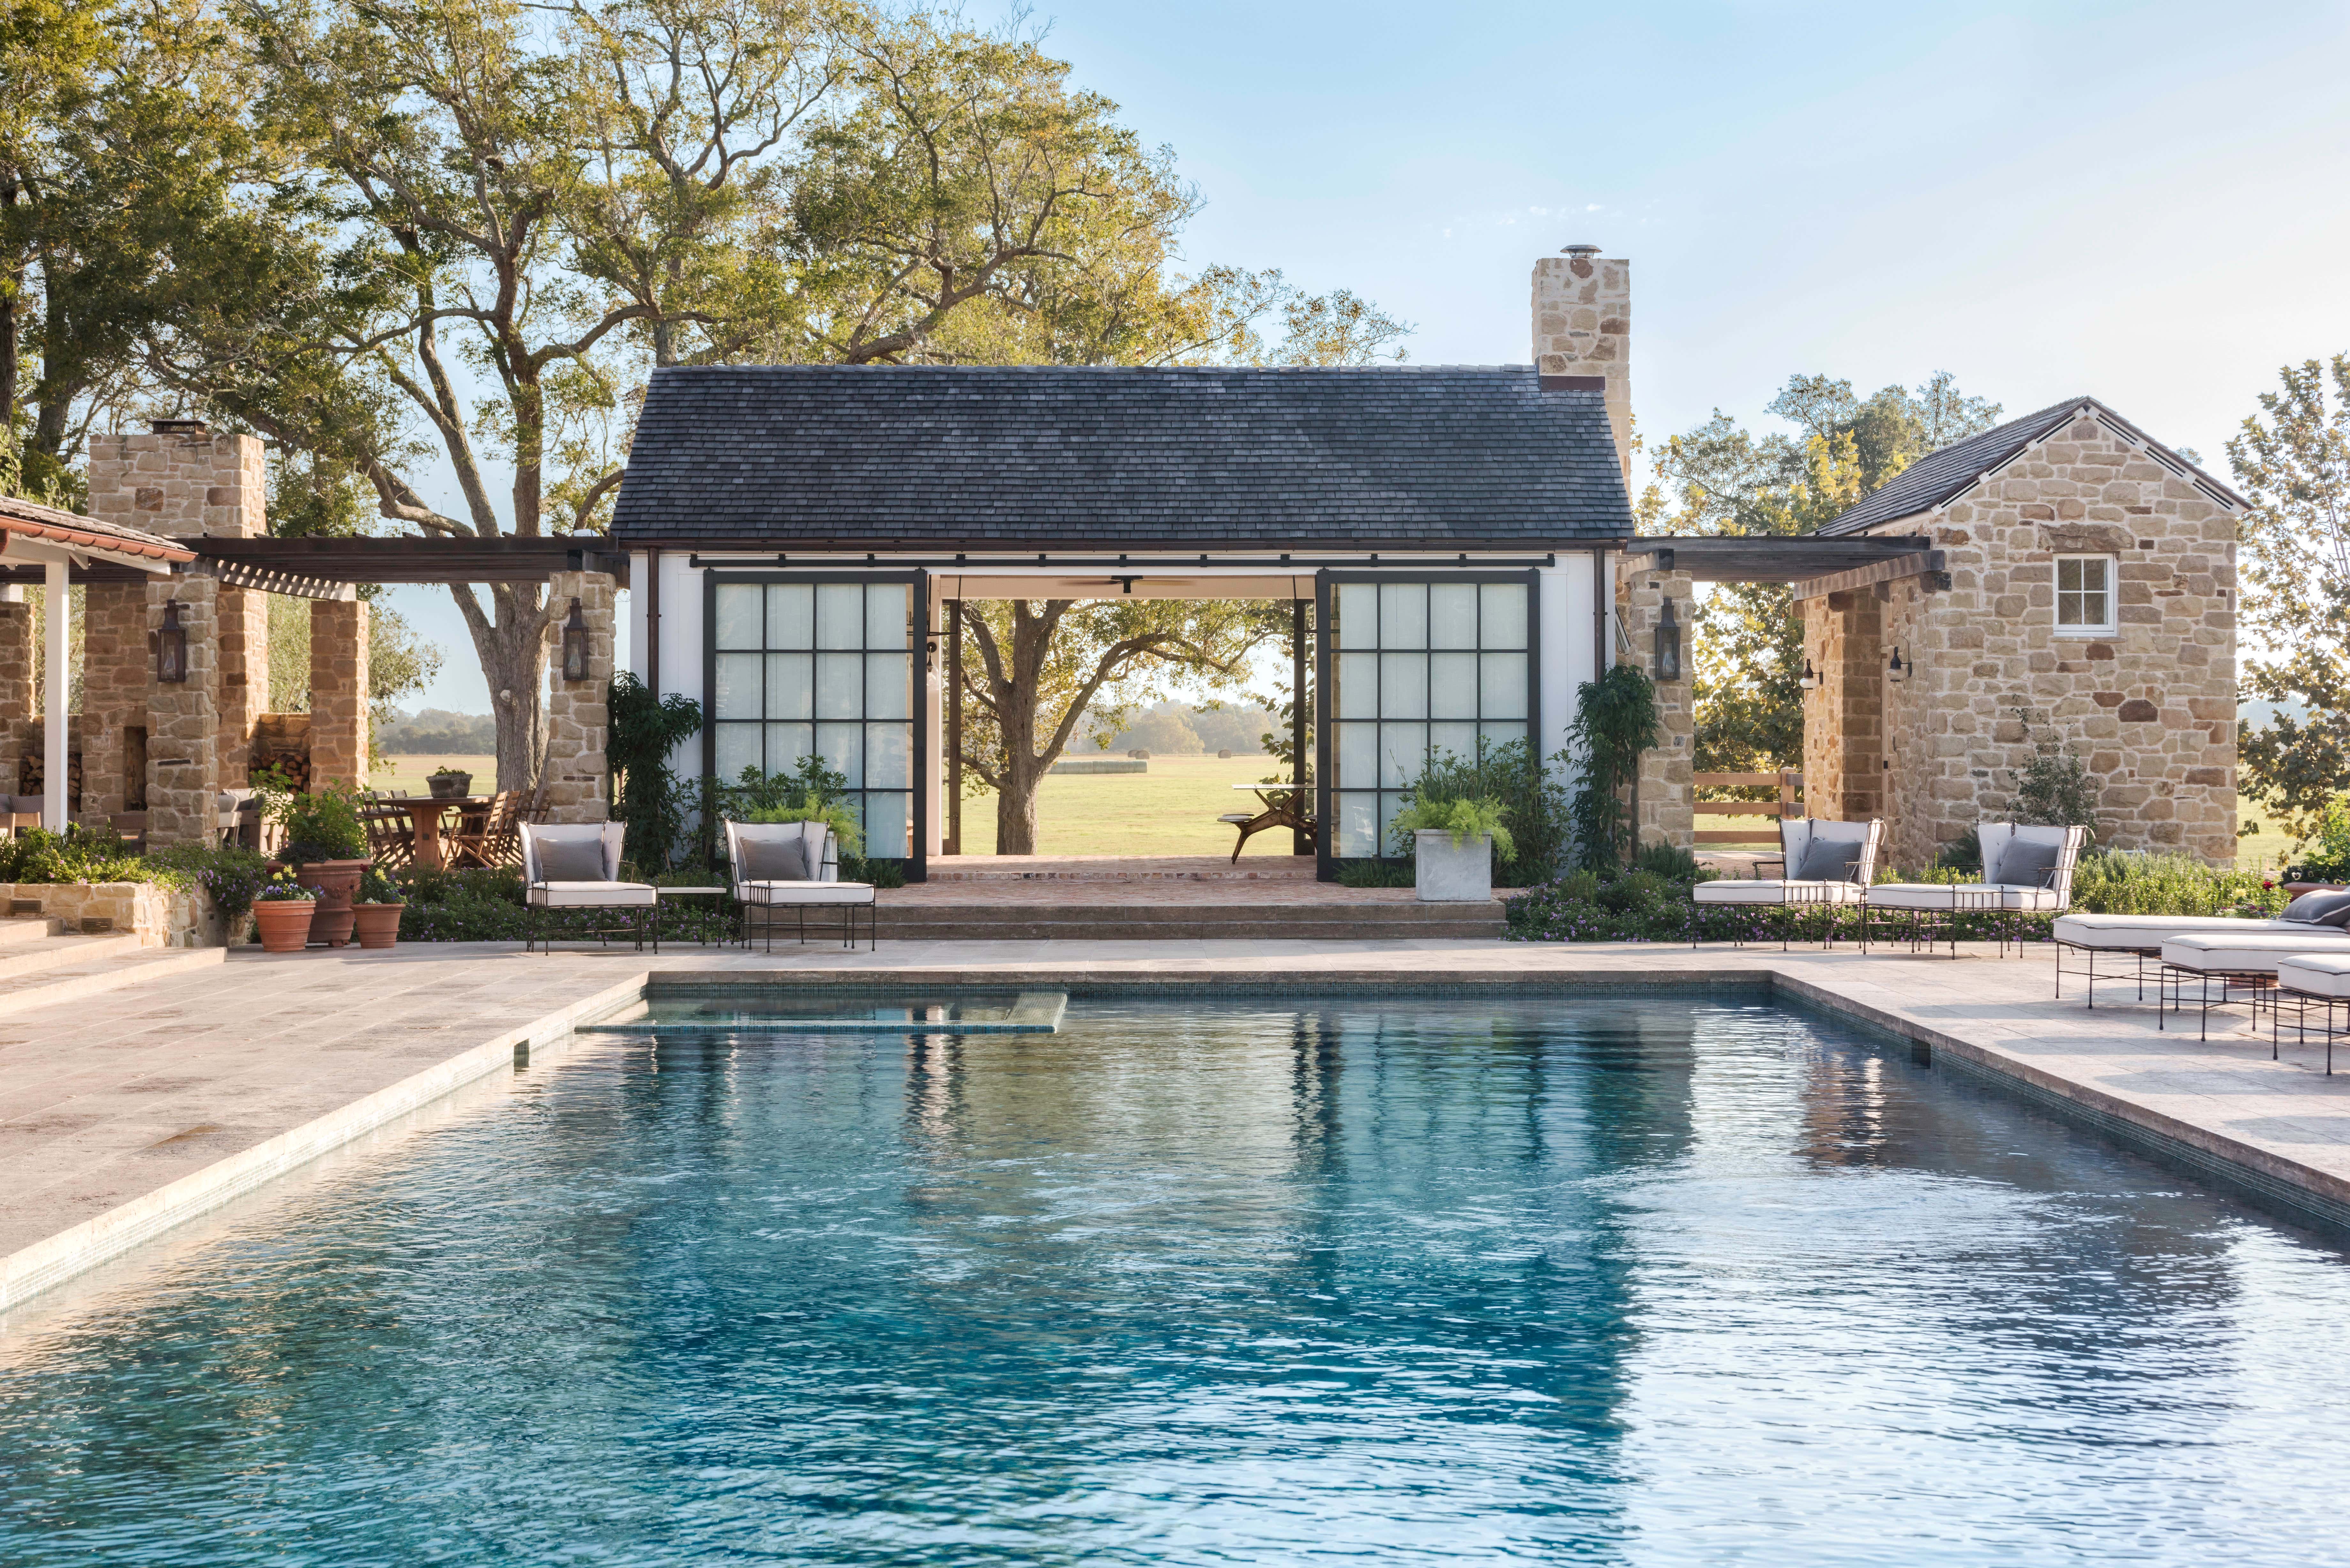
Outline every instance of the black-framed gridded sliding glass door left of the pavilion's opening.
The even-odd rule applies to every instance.
[[[804,757],[848,778],[865,853],[912,860],[926,820],[921,574],[705,574],[705,766],[790,773]]]

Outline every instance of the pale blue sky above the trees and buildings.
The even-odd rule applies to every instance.
[[[973,14],[982,14],[978,7]],[[1431,21],[1441,16],[1441,21]],[[1633,409],[1760,421],[1793,371],[2103,397],[2225,473],[2289,360],[2350,350],[2343,5],[1039,9],[1170,143],[1191,261],[1278,266],[1528,357],[1528,268],[1633,261]],[[430,705],[486,710],[449,649]]]

